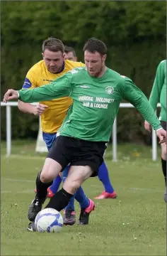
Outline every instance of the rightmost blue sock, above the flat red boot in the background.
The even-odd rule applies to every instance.
[[[99,169],[98,169],[98,178],[103,183],[103,186],[105,188],[105,192],[108,192],[108,193],[113,193],[114,192],[114,188],[111,185],[110,178],[108,176],[108,169],[107,169],[107,166],[105,165],[104,161],[103,161],[103,164],[101,164]]]

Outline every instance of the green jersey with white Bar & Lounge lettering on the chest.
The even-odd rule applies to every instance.
[[[106,69],[101,78],[91,77],[86,68],[75,68],[50,85],[19,90],[19,100],[40,102],[63,96],[73,99],[59,134],[91,142],[108,142],[122,99],[139,110],[154,129],[161,128],[146,96],[132,80]]]

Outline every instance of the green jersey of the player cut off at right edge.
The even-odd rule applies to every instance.
[[[156,77],[154,85],[151,90],[149,102],[154,110],[156,110],[157,103],[161,103],[161,112],[159,120],[167,121],[166,119],[166,60],[161,61],[156,70]]]

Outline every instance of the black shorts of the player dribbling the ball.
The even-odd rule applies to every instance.
[[[74,137],[59,136],[50,149],[47,157],[57,161],[62,170],[71,166],[90,166],[93,174],[98,175],[98,168],[103,163],[106,142],[88,142]]]

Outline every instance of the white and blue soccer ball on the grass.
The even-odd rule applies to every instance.
[[[57,233],[62,229],[62,215],[52,208],[40,210],[35,218],[35,228],[38,232]]]

